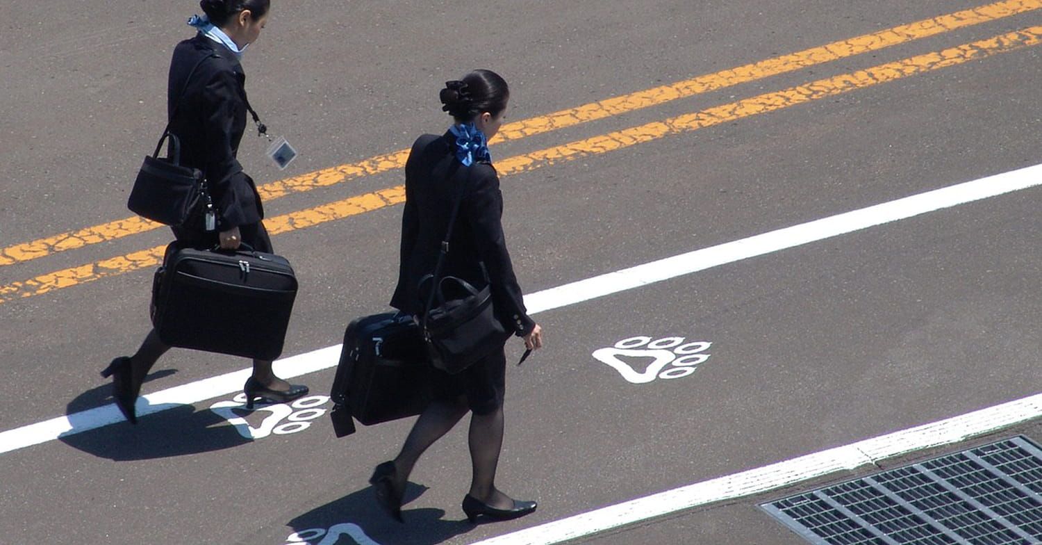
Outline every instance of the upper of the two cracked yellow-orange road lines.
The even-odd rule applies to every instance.
[[[989,21],[1024,14],[1042,7],[1042,0],[1003,0],[992,4],[895,26],[869,34],[833,42],[759,63],[698,76],[668,85],[658,86],[628,95],[591,102],[574,108],[563,109],[503,125],[492,143],[518,140],[532,134],[557,130],[580,123],[618,116],[628,112],[663,104],[671,100],[691,97],[700,93],[747,83],[815,65],[859,55],[869,51],[921,40]],[[405,165],[408,150],[377,155],[368,159],[341,165],[266,183],[257,188],[265,201],[291,193],[303,193],[317,188],[336,185],[363,176],[397,170]],[[64,232],[46,239],[17,244],[0,249],[0,267],[27,262],[46,255],[80,248],[90,244],[111,241],[160,227],[157,223],[141,218],[127,218],[78,231]]]

